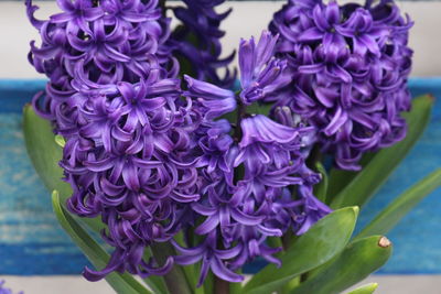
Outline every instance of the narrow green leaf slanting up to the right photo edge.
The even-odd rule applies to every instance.
[[[356,238],[385,235],[392,229],[419,202],[441,185],[441,168],[434,171],[399,197],[395,198]]]

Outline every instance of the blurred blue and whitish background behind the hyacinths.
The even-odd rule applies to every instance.
[[[344,3],[346,1],[338,1]],[[46,19],[60,9],[53,1],[35,1]],[[170,2],[173,6],[173,2]],[[224,55],[240,37],[260,34],[283,1],[228,1],[233,8],[223,23]],[[441,1],[399,2],[411,15],[410,45],[415,50],[411,90],[441,99]],[[21,134],[21,109],[44,87],[44,77],[29,65],[29,42],[39,35],[28,22],[23,1],[0,0],[0,280],[28,294],[111,293],[105,282],[88,283],[77,276],[85,258],[58,228],[50,194],[34,173]],[[233,63],[235,65],[235,63]],[[232,66],[233,66],[232,65]],[[417,148],[365,208],[366,224],[400,192],[441,166],[441,109],[438,102],[428,132]],[[441,192],[423,200],[391,233],[395,252],[380,275],[378,293],[441,293]],[[67,286],[66,286],[67,285]],[[309,294],[309,293],[308,293]]]

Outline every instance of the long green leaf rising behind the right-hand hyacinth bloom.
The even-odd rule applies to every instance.
[[[379,151],[335,197],[331,203],[331,208],[363,206],[370,199],[422,134],[429,122],[432,106],[433,97],[431,96],[422,96],[413,100],[412,111],[404,115],[408,122],[406,138],[394,146]]]

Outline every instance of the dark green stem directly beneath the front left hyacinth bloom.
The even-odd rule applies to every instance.
[[[151,250],[159,264],[164,264],[169,257],[176,254],[173,246],[166,242],[154,243],[151,246]],[[181,266],[173,266],[172,270],[164,275],[164,280],[170,294],[192,294],[185,273]]]

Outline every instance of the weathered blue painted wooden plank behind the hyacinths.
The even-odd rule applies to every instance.
[[[78,274],[86,259],[58,227],[50,194],[28,159],[21,110],[44,80],[0,80],[0,275]],[[416,95],[441,99],[441,78],[410,80]],[[441,108],[386,186],[366,206],[361,225],[380,207],[441,166]],[[380,273],[441,273],[441,190],[423,200],[388,237],[394,255]],[[313,249],[312,249],[313,250]],[[252,269],[248,269],[252,271]]]

